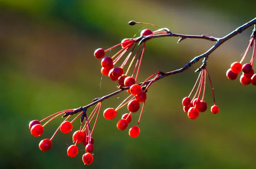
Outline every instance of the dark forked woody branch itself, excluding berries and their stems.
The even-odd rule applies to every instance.
[[[208,56],[213,52],[215,51],[220,45],[222,45],[224,42],[226,42],[227,40],[231,39],[232,37],[235,37],[237,34],[240,34],[242,33],[244,30],[246,30],[247,28],[249,28],[250,26],[254,25],[254,30],[253,30],[253,34],[252,36],[255,34],[255,27],[256,27],[256,18],[254,18],[253,20],[250,20],[249,22],[245,23],[244,25],[241,25],[240,27],[236,28],[236,30],[232,31],[230,34],[227,34],[226,36],[222,37],[222,38],[215,38],[215,37],[207,37],[207,36],[204,36],[204,35],[183,35],[183,34],[174,34],[172,32],[170,32],[169,30],[166,31],[167,34],[160,34],[160,35],[149,35],[149,36],[146,36],[146,37],[137,37],[135,39],[136,42],[139,42],[139,45],[143,42],[146,42],[148,41],[149,39],[152,39],[152,38],[158,38],[158,37],[180,37],[180,39],[178,40],[178,42],[180,42],[181,40],[183,39],[187,39],[187,38],[197,38],[197,39],[206,39],[206,40],[210,40],[210,41],[215,41],[216,44],[213,45],[208,51],[206,51],[204,54],[201,54],[199,56],[196,56],[195,58],[193,58],[190,62],[188,62],[186,65],[184,65],[182,68],[180,69],[177,69],[177,70],[173,70],[173,71],[170,71],[170,72],[167,72],[167,73],[163,73],[163,72],[158,72],[158,77],[154,80],[154,82],[160,80],[160,79],[163,79],[164,77],[167,77],[167,76],[170,76],[170,75],[174,75],[174,74],[177,74],[177,73],[182,73],[184,70],[187,70],[189,69],[193,64],[195,64],[196,62],[198,62],[200,59],[202,58],[205,58],[204,61],[203,61],[203,65],[198,68],[198,70],[196,71],[200,71],[200,69],[204,66],[206,66],[206,63],[207,63],[207,58]],[[166,29],[165,29],[166,30]],[[147,82],[144,83],[144,85],[148,85],[150,82],[152,81],[151,80],[148,80]],[[152,82],[153,83],[153,82]],[[138,85],[142,85],[143,83],[138,83]],[[76,113],[79,113],[81,111],[86,111],[89,107],[92,107],[93,105],[99,103],[99,102],[102,102],[112,96],[115,96],[116,94],[118,93],[121,93],[125,90],[128,90],[130,88],[130,86],[128,87],[120,87],[119,90],[113,92],[113,93],[110,93],[106,96],[103,96],[101,98],[96,98],[93,100],[92,103],[84,106],[84,107],[79,107],[77,109],[74,109],[72,112],[67,112],[63,115],[63,117],[66,117],[68,115],[73,115],[73,114],[76,114]]]

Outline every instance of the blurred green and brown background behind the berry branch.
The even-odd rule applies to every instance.
[[[39,138],[30,134],[29,121],[55,112],[90,104],[92,99],[116,91],[116,82],[100,73],[96,48],[110,48],[124,38],[139,35],[145,25],[129,26],[129,20],[153,23],[180,34],[223,37],[255,17],[255,2],[171,0],[0,0],[0,168],[1,169],[255,169],[256,87],[228,80],[226,71],[240,61],[247,48],[249,28],[230,39],[208,59],[207,69],[215,91],[218,114],[212,114],[212,92],[207,81],[208,110],[196,120],[183,112],[181,100],[188,96],[198,77],[192,68],[155,82],[140,121],[137,138],[120,131],[102,113],[117,107],[128,93],[102,103],[95,131],[95,151],[90,166],[67,156],[72,133],[58,132],[48,152],[38,143],[50,138],[61,122],[58,117]],[[142,82],[161,71],[181,68],[215,42],[203,39],[151,39],[138,77]],[[120,48],[107,55],[112,56]],[[250,62],[250,49],[245,62]],[[92,109],[88,110],[90,113]],[[137,124],[133,113],[129,127]],[[128,127],[128,128],[129,128]]]

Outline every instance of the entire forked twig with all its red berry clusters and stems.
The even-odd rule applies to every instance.
[[[200,68],[198,68],[195,71],[195,72],[200,72],[198,79],[195,83],[195,86],[193,87],[189,96],[185,97],[182,101],[183,110],[188,113],[188,117],[191,119],[197,118],[199,115],[199,112],[205,112],[207,110],[207,103],[204,101],[204,93],[206,88],[206,79],[208,76],[211,89],[212,89],[212,96],[213,96],[213,106],[211,107],[211,112],[214,114],[218,113],[219,108],[215,104],[215,97],[213,93],[212,82],[209,77],[209,73],[206,69],[207,59],[209,55],[213,51],[215,51],[220,45],[222,45],[224,42],[226,42],[230,38],[236,36],[237,34],[243,32],[244,30],[246,30],[252,25],[254,25],[254,30],[253,30],[253,34],[251,36],[248,48],[243,58],[241,59],[241,61],[235,62],[231,65],[231,68],[227,71],[227,77],[231,80],[234,80],[238,77],[239,72],[242,70],[243,75],[241,75],[240,82],[243,85],[248,85],[250,83],[252,83],[253,85],[256,85],[256,74],[254,74],[254,70],[253,70],[253,61],[254,61],[255,48],[256,48],[256,25],[255,25],[256,18],[245,23],[244,25],[241,25],[239,28],[237,28],[236,30],[232,31],[230,34],[227,34],[222,38],[207,37],[205,35],[175,34],[169,31],[168,28],[161,28],[160,26],[157,26],[157,25],[148,24],[148,23],[139,23],[135,21],[130,21],[128,24],[129,25],[136,25],[136,24],[152,25],[154,27],[157,27],[158,30],[151,31],[150,29],[144,29],[143,31],[141,31],[140,37],[125,38],[121,41],[121,43],[114,45],[113,47],[108,48],[107,50],[104,50],[102,48],[96,49],[96,51],[94,52],[94,56],[97,59],[102,59],[101,61],[102,74],[105,76],[109,76],[109,78],[113,81],[117,81],[119,85],[119,90],[113,93],[110,93],[106,96],[93,99],[93,101],[90,104],[84,107],[63,110],[58,113],[49,115],[47,118],[44,118],[41,121],[38,121],[38,120],[31,121],[29,123],[30,132],[33,136],[38,137],[43,134],[44,127],[54,118],[57,118],[59,115],[62,115],[62,117],[66,117],[65,120],[59,125],[59,127],[57,128],[57,130],[54,132],[54,134],[50,139],[45,138],[39,143],[39,148],[42,151],[48,151],[52,147],[52,139],[55,137],[58,130],[61,130],[61,132],[63,133],[70,133],[73,130],[73,122],[80,117],[80,123],[81,123],[80,129],[76,130],[73,133],[73,137],[72,137],[73,144],[68,147],[67,155],[70,156],[71,158],[75,157],[79,152],[77,144],[83,143],[85,146],[85,153],[82,156],[82,161],[84,162],[84,164],[87,164],[87,165],[91,164],[93,162],[92,152],[94,150],[94,138],[92,137],[92,135],[95,129],[95,125],[97,123],[97,119],[99,118],[99,113],[100,113],[103,101],[123,91],[127,91],[128,93],[131,94],[124,101],[122,101],[122,103],[119,104],[118,107],[107,108],[103,112],[103,116],[106,119],[113,119],[116,117],[117,111],[122,107],[124,107],[125,105],[127,105],[127,109],[129,113],[123,114],[122,118],[119,119],[119,121],[116,124],[119,130],[127,129],[129,123],[132,121],[132,116],[131,116],[132,113],[135,113],[138,110],[140,110],[140,104],[142,104],[140,117],[138,119],[137,125],[132,126],[129,130],[129,135],[135,138],[140,134],[140,128],[138,126],[141,120],[141,116],[143,114],[145,100],[147,99],[146,92],[148,91],[148,88],[151,86],[151,84],[153,84],[154,82],[160,79],[163,79],[164,77],[171,76],[177,73],[182,73],[184,70],[189,69],[193,64],[195,64],[201,59],[204,59],[203,64]],[[178,39],[177,43],[188,38],[206,39],[206,40],[215,42],[215,45],[209,48],[209,50],[206,51],[204,54],[201,54],[193,58],[190,62],[188,62],[186,65],[184,65],[180,69],[173,70],[166,73],[159,71],[149,76],[147,79],[145,79],[144,82],[137,83],[137,77],[139,74],[140,66],[143,59],[143,54],[145,51],[145,43],[149,39],[158,38],[158,37],[179,37],[180,39]],[[139,47],[135,52],[135,48],[137,47],[137,45],[139,45]],[[118,52],[116,52],[116,54],[114,54],[111,57],[105,56],[106,52],[118,46],[121,46],[121,49]],[[250,63],[246,63],[242,66],[241,63],[243,62],[244,57],[247,55],[249,48],[252,46],[253,46],[253,56],[251,58],[251,61]],[[123,62],[119,64],[121,60],[123,60]],[[125,67],[126,65],[128,65],[128,67]],[[131,70],[133,66],[134,66],[134,70],[131,73],[129,73],[129,70]],[[198,85],[198,88],[195,91],[196,85]],[[192,97],[192,93],[194,91],[195,91],[195,94]],[[92,110],[92,112],[89,114],[87,110],[93,106],[95,107]],[[72,121],[68,121],[69,118],[72,117],[72,115],[75,115],[77,113],[79,114],[76,115],[76,117],[73,118]],[[48,121],[42,125],[42,123],[46,120]],[[92,124],[93,121],[94,121],[94,124]]]

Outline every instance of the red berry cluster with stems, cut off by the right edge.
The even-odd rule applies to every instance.
[[[249,48],[253,45],[253,42],[254,42],[253,55],[250,60],[250,63],[245,63],[244,65],[241,65],[241,63],[244,61],[244,58],[249,51]],[[230,69],[227,70],[226,76],[228,79],[235,80],[238,77],[239,73],[242,71],[243,74],[240,77],[241,84],[249,85],[251,83],[252,85],[256,85],[256,73],[254,74],[254,70],[253,70],[255,47],[256,47],[256,37],[252,37],[241,61],[232,63],[230,66]]]

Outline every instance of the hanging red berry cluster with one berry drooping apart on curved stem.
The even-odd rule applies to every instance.
[[[184,110],[184,112],[188,113],[188,117],[191,118],[191,119],[198,118],[199,112],[205,112],[207,110],[207,103],[206,103],[206,101],[204,101],[204,93],[205,93],[206,76],[207,75],[209,77],[207,69],[203,68],[201,70],[199,76],[198,76],[198,79],[197,79],[197,81],[195,83],[195,86],[193,87],[191,93],[189,94],[188,97],[185,97],[182,100],[183,110]],[[199,84],[198,84],[198,81],[199,81]],[[209,81],[210,81],[210,85],[212,87],[212,82],[210,80],[210,77],[209,77]],[[193,99],[191,100],[190,97],[191,97],[193,91],[195,90],[195,87],[196,87],[197,84],[198,84],[198,88],[195,92],[195,95],[194,95]],[[203,91],[202,98],[200,99],[201,92],[202,92],[202,89],[203,89],[203,85],[204,85],[204,91]],[[198,96],[197,96],[197,93],[198,93]],[[213,88],[212,88],[212,96],[213,96],[214,105],[211,107],[211,112],[216,114],[216,113],[218,113],[219,108],[218,108],[217,105],[215,105],[215,98],[214,98]]]

